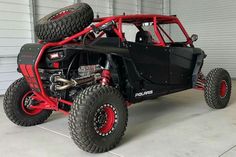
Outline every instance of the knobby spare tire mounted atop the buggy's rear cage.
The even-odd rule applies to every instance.
[[[88,4],[70,5],[41,18],[35,26],[35,34],[46,42],[60,41],[82,31],[91,24],[93,17]]]

